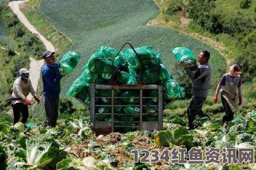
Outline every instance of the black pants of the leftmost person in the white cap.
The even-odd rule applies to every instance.
[[[23,103],[16,103],[12,104],[12,110],[13,110],[13,124],[16,124],[20,120],[20,113],[22,113],[22,123],[27,122],[27,118],[29,118],[29,108],[27,107],[27,104]]]

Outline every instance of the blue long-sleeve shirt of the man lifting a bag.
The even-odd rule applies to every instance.
[[[57,63],[44,64],[41,68],[42,84],[44,86],[43,94],[47,96],[59,96],[61,92],[61,78],[59,66]]]

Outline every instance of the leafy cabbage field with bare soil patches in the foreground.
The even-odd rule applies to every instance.
[[[256,111],[229,122],[207,117],[197,121],[197,129],[187,131],[187,118],[165,117],[164,131],[135,131],[95,136],[88,118],[67,116],[55,128],[42,122],[14,126],[10,117],[0,118],[0,169],[255,169],[256,164],[173,164],[169,162],[133,162],[131,150],[187,149],[207,147],[256,147]],[[237,155],[238,157],[238,155]],[[188,153],[184,158],[189,160]],[[256,154],[254,155],[254,161]],[[204,157],[205,160],[205,157]]]

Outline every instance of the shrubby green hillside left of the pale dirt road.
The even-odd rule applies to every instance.
[[[0,5],[1,113],[10,108],[6,100],[12,93],[13,82],[19,69],[22,67],[28,68],[29,57],[38,59],[45,50],[37,35],[27,30],[7,5],[7,1]]]

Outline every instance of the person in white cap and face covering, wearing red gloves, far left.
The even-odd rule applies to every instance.
[[[34,88],[29,79],[29,70],[26,68],[20,68],[19,77],[13,83],[13,91],[12,91],[12,108],[13,108],[13,124],[19,122],[20,113],[22,113],[22,123],[27,122],[27,118],[29,117],[29,108],[31,105],[31,101],[27,99],[27,95],[31,93],[37,103],[40,103],[40,99],[35,95]]]

